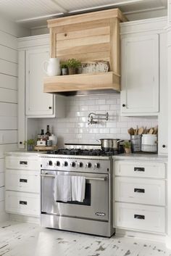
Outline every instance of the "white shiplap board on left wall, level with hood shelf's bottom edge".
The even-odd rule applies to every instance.
[[[17,91],[0,88],[0,102],[17,103]]]

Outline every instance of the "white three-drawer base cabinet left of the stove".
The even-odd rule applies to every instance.
[[[40,216],[40,170],[38,154],[7,154],[5,173],[5,210],[7,212]]]

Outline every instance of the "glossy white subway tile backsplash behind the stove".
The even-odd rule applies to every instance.
[[[88,125],[88,114],[105,114],[109,120],[99,120],[97,124]],[[96,117],[96,116],[95,116]],[[39,120],[40,129],[49,124],[58,137],[59,146],[64,143],[98,144],[96,139],[129,139],[128,128],[154,127],[158,120],[153,117],[121,117],[120,94],[93,96],[72,96],[67,98],[67,115],[65,118],[43,118]]]

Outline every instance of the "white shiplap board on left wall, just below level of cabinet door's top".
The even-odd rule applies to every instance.
[[[17,63],[17,50],[0,45],[0,59],[6,59],[9,62]]]

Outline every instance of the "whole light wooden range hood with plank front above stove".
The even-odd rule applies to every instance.
[[[53,94],[91,94],[120,91],[120,22],[127,21],[120,9],[109,9],[48,20],[51,57],[61,61],[105,60],[108,73],[58,75],[44,78],[44,92]]]

